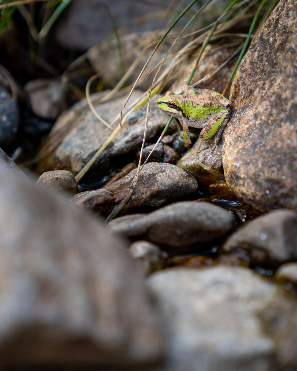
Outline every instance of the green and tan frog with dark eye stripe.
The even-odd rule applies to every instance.
[[[230,118],[231,102],[222,94],[209,89],[186,86],[184,94],[170,90],[157,100],[157,106],[162,111],[176,117],[182,124],[184,146],[189,147],[191,144],[189,126],[202,128],[199,134],[202,143],[213,138],[218,141]]]

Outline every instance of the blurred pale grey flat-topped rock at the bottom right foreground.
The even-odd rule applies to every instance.
[[[279,285],[226,266],[161,270],[148,283],[167,336],[166,360],[154,371],[280,370],[296,298]]]

